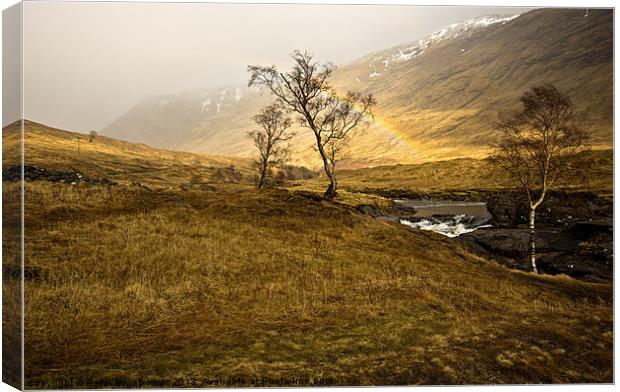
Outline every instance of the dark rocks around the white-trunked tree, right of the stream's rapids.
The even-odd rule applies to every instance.
[[[492,228],[458,240],[511,268],[531,270],[527,204],[515,194],[489,198]],[[592,193],[553,194],[537,212],[536,253],[541,272],[585,280],[613,279],[613,203]],[[518,228],[521,226],[521,228]]]

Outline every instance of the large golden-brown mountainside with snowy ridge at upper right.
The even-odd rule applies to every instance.
[[[595,143],[611,143],[612,17],[609,10],[531,11],[372,77],[376,58],[395,50],[379,53],[342,67],[335,83],[376,94],[378,116],[420,145],[424,158],[483,155],[498,112],[516,108],[522,91],[541,82],[573,97]]]

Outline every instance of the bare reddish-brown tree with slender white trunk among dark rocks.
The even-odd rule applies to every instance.
[[[536,266],[536,209],[549,190],[571,174],[570,158],[586,147],[589,134],[577,127],[573,104],[552,84],[520,97],[521,110],[501,121],[491,161],[521,187],[530,206],[530,262]]]

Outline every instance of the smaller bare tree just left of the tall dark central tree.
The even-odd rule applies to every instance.
[[[254,122],[261,129],[248,132],[248,136],[254,140],[254,145],[259,152],[259,158],[256,161],[257,186],[262,188],[272,177],[273,169],[285,161],[289,152],[286,142],[295,134],[289,132],[291,120],[286,117],[278,103],[263,108],[254,116]]]

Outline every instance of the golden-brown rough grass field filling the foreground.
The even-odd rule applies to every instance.
[[[355,192],[359,172],[336,201],[312,196],[318,180],[183,191],[217,162],[145,153],[147,189],[120,181],[141,178],[131,154],[96,140],[60,157],[71,137],[35,134],[27,164],[51,154],[119,185],[25,185],[27,388],[613,381],[611,283],[509,270],[362,215],[351,205],[386,199]],[[5,211],[18,186],[3,183]]]

